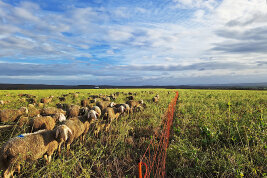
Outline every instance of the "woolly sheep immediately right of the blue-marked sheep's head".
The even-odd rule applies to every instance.
[[[64,125],[68,126],[72,132],[71,136],[66,141],[67,144],[67,151],[70,149],[71,143],[80,137],[80,141],[84,141],[85,135],[89,130],[89,122],[85,121],[84,123],[78,117],[72,117],[67,120]],[[59,153],[60,153],[60,146],[59,146]]]

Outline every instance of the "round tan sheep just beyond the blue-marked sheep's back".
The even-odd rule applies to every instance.
[[[55,125],[56,121],[51,116],[35,117],[30,124],[33,132],[41,129],[52,130]]]

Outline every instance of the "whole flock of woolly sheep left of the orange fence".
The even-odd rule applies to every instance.
[[[120,94],[91,95],[82,100],[81,105],[58,103],[57,107],[46,107],[53,96],[42,98],[38,103],[36,96],[20,94],[21,98],[31,103],[27,108],[0,110],[1,123],[17,121],[17,126],[26,125],[28,128],[28,133],[11,138],[2,145],[0,170],[3,170],[3,177],[13,176],[15,171],[20,173],[20,164],[23,161],[44,157],[49,163],[56,150],[61,153],[62,145],[66,145],[68,152],[73,141],[85,141],[86,134],[92,128],[91,124],[95,125],[93,132],[97,136],[100,131],[108,131],[111,123],[120,115],[146,108],[143,100],[134,100],[135,93],[124,93],[128,99],[126,103],[114,103]],[[64,102],[69,95],[78,98],[79,93],[62,95],[58,99]],[[158,102],[159,95],[153,97],[152,101]]]

